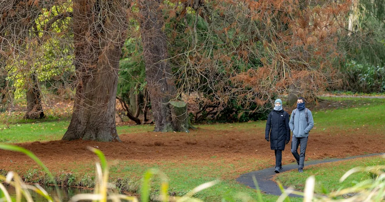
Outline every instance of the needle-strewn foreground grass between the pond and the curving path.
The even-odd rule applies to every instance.
[[[250,160],[250,164],[255,163],[257,159]],[[95,176],[95,165],[92,164],[82,164],[82,163],[72,163],[75,164],[76,169],[72,169],[72,177],[74,177],[74,183],[78,184],[79,182],[83,183],[83,186],[93,185],[93,180]],[[207,202],[211,201],[240,201],[240,197],[250,197],[254,200],[258,199],[257,191],[250,189],[245,185],[238,184],[235,181],[236,174],[229,174],[233,179],[221,179],[220,175],[223,173],[231,173],[231,166],[222,166],[221,160],[216,160],[213,162],[208,162],[202,165],[202,162],[197,160],[186,160],[181,164],[176,164],[175,162],[161,161],[151,164],[138,163],[136,161],[125,160],[119,162],[109,162],[110,169],[110,182],[116,182],[117,179],[122,179],[122,184],[124,190],[131,192],[137,192],[140,189],[140,184],[142,182],[141,177],[148,169],[158,169],[164,174],[167,175],[169,183],[169,192],[175,192],[176,196],[182,196],[187,192],[191,191],[194,187],[210,182],[213,180],[219,180],[219,183],[213,187],[202,190],[197,194],[194,194],[193,197],[197,197]],[[236,164],[236,163],[234,163]],[[74,165],[72,165],[74,166]],[[258,169],[258,168],[256,168]],[[30,179],[39,179],[39,172],[30,170],[29,174],[25,176],[30,176]],[[31,174],[32,173],[32,174]],[[56,176],[63,175],[60,173],[53,173]],[[152,178],[151,192],[159,194],[161,180],[159,177]],[[278,196],[263,194],[263,200],[265,202],[273,202],[278,199]],[[299,198],[292,198],[291,201],[302,201]]]

